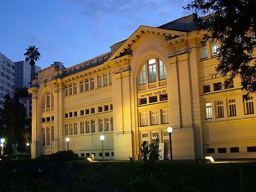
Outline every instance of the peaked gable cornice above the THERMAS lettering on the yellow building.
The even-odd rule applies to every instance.
[[[162,35],[165,36],[166,41],[168,41],[170,39],[178,38],[186,34],[187,32],[183,31],[173,31],[149,26],[140,26],[139,28],[137,28],[136,31],[134,31],[134,33],[128,39],[115,44],[119,47],[115,47],[116,50],[114,51],[114,53],[112,53],[108,61],[122,57],[124,55],[131,54],[131,50],[133,50],[133,48],[136,47],[137,44],[139,44],[139,42],[141,41],[141,39],[145,38],[145,36]]]

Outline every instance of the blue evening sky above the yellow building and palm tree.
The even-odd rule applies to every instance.
[[[110,51],[140,25],[160,26],[191,14],[191,0],[1,0],[0,52],[24,60],[28,45],[41,53],[42,69],[65,67]]]

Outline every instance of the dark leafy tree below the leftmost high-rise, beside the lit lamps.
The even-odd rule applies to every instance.
[[[28,119],[23,104],[15,104],[5,95],[3,109],[0,109],[0,135],[6,140],[5,154],[13,152],[14,147],[19,152],[26,152],[28,134]]]

